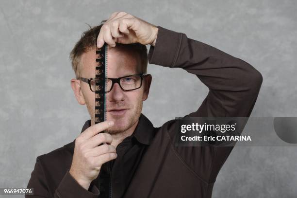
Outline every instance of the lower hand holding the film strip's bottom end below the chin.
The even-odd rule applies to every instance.
[[[69,173],[86,190],[91,181],[98,177],[102,164],[117,157],[115,146],[111,145],[112,136],[108,133],[99,133],[113,125],[113,121],[104,121],[90,126],[75,140]]]

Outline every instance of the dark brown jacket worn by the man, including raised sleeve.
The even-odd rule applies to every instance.
[[[201,106],[194,107],[198,110],[186,115],[189,117],[248,117],[262,84],[261,73],[247,62],[162,27],[155,47],[149,49],[148,60],[182,68],[209,88]],[[195,84],[185,89],[194,91]],[[82,131],[89,125],[87,121]],[[175,146],[175,125],[176,121],[170,120],[155,128],[141,114],[133,136],[144,143],[145,150],[126,189],[118,193],[113,183],[113,198],[211,198],[217,174],[233,147]],[[28,183],[34,188],[34,196],[26,197],[101,198],[99,178],[87,191],[69,174],[74,144],[37,157]]]

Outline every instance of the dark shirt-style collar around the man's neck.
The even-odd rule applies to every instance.
[[[86,121],[82,126],[82,132],[90,126],[91,120]],[[135,139],[141,144],[149,145],[153,140],[155,136],[154,126],[144,114],[140,114],[138,124],[131,136],[135,137]]]

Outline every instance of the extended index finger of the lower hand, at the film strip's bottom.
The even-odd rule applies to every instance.
[[[114,121],[112,121],[112,120],[104,121],[104,122],[98,123],[96,125],[92,125],[92,126],[88,127],[85,131],[83,131],[78,138],[82,141],[90,139],[94,135],[98,134],[101,131],[108,129],[109,127],[111,127],[113,125],[114,125]]]

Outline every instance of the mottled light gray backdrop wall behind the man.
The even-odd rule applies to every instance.
[[[68,60],[86,23],[126,11],[242,58],[264,77],[251,116],[297,117],[296,10],[296,0],[1,0],[0,187],[26,187],[36,157],[72,141],[89,119],[70,88]],[[181,69],[151,65],[148,72],[143,113],[155,126],[197,110],[207,94]],[[297,197],[296,150],[234,148],[213,197]]]

